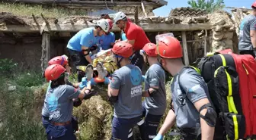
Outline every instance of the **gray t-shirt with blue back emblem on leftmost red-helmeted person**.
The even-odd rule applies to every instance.
[[[53,122],[67,122],[71,120],[73,110],[73,98],[78,98],[80,91],[69,85],[49,88],[44,99],[42,114],[49,114],[49,120]],[[46,112],[44,112],[46,111]]]

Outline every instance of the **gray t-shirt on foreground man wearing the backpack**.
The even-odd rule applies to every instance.
[[[171,95],[174,103],[177,126],[181,129],[200,127],[200,116],[194,103],[200,99],[210,97],[206,82],[203,77],[192,68],[185,68],[180,77],[180,85],[187,91],[187,98],[184,99],[184,106],[181,107],[181,99],[186,96],[178,83],[178,76],[174,76],[171,84]],[[211,101],[210,101],[211,102]],[[179,108],[179,109],[178,109]]]

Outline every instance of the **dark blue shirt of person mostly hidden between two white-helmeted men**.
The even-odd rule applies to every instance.
[[[101,43],[101,49],[102,50],[107,50],[110,48],[111,43],[115,42],[115,35],[114,33],[110,32],[106,36],[101,36],[100,43]]]

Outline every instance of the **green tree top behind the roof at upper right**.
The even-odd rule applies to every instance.
[[[213,11],[225,8],[224,0],[190,0],[187,2],[192,8],[200,8],[211,13]]]

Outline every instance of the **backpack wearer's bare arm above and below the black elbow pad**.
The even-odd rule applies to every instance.
[[[210,101],[207,98],[200,99],[199,101],[196,101],[194,103],[194,106],[197,108],[197,110],[200,110],[200,107],[202,107],[204,104],[208,104]],[[200,114],[205,116],[207,109],[204,108],[200,111]],[[209,126],[205,120],[203,120],[202,117],[200,117],[200,125],[201,125],[201,136],[204,140],[213,140],[214,136],[214,129],[215,127]]]

